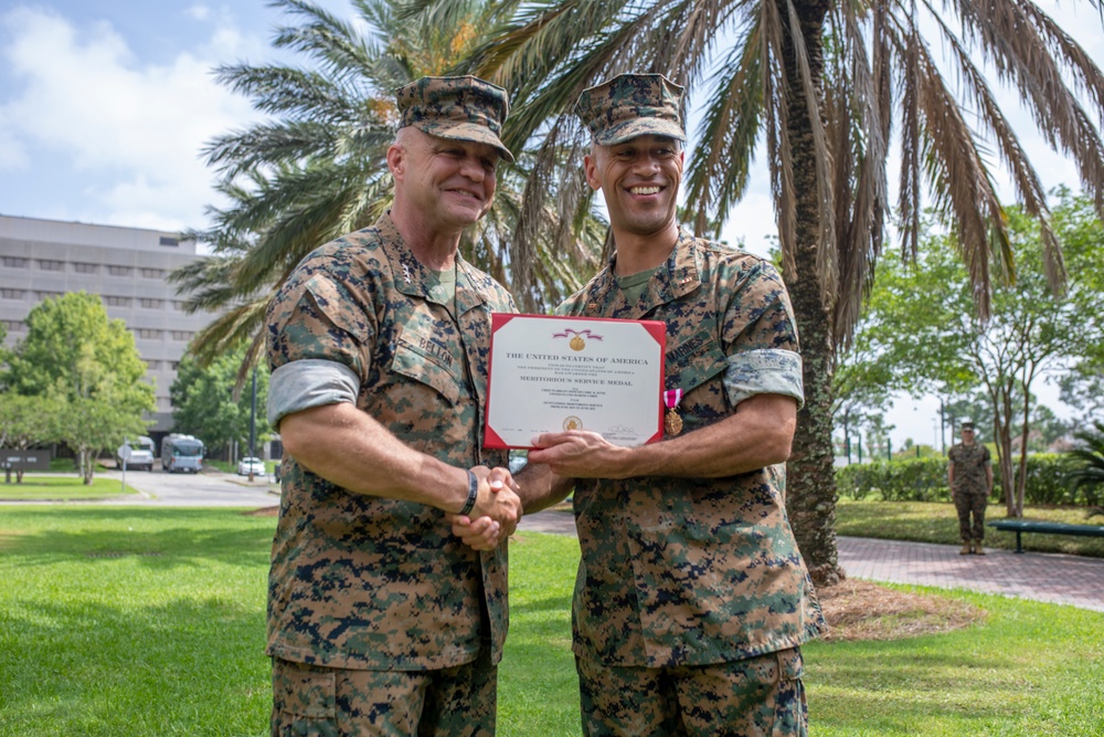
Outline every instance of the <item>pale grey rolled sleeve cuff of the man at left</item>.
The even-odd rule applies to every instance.
[[[357,403],[360,377],[344,364],[318,358],[290,361],[268,377],[268,424],[311,407]]]

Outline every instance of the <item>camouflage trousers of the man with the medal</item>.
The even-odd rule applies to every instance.
[[[701,666],[617,667],[575,659],[588,737],[807,734],[799,647]]]

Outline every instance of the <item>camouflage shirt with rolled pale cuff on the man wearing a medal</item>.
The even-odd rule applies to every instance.
[[[785,360],[796,359],[797,334],[777,272],[684,231],[637,304],[617,287],[612,262],[559,312],[665,323],[666,388],[684,392],[678,408],[684,433],[733,414],[732,391],[742,401],[793,394],[786,387],[799,386],[799,361]],[[798,376],[777,383],[787,370]],[[572,621],[581,672],[587,661],[651,668],[730,663],[774,668],[797,682],[800,655],[792,649],[825,622],[784,496],[784,465],[726,478],[580,480],[582,560]],[[584,710],[590,697],[584,691]],[[788,697],[804,704],[799,682]],[[733,705],[710,703],[723,698],[697,694],[690,703],[709,704],[724,718]],[[644,734],[639,726],[619,734],[634,733]]]

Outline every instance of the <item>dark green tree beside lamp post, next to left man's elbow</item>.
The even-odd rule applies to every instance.
[[[208,448],[224,449],[232,443],[248,448],[252,413],[252,382],[237,381],[245,351],[219,356],[201,367],[185,355],[177,369],[177,380],[169,389],[172,420],[178,432],[201,438]],[[268,371],[257,370],[257,413],[255,438],[267,440],[272,430],[265,415],[268,404]]]

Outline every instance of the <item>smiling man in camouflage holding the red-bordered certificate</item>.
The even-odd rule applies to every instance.
[[[595,144],[587,179],[617,253],[559,310],[665,323],[665,397],[681,390],[681,428],[634,449],[548,433],[530,462],[576,477],[584,733],[799,735],[799,645],[825,622],[785,510],[797,333],[768,262],[675,222],[681,92],[623,75],[580,98]]]

